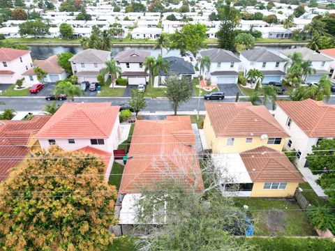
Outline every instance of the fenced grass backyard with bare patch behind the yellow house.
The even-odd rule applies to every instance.
[[[249,206],[255,236],[313,236],[306,214],[295,200],[236,198],[237,204]]]

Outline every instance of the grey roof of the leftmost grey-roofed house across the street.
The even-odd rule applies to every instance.
[[[104,50],[87,49],[78,52],[68,61],[74,63],[105,63],[105,61],[110,59],[110,53]]]

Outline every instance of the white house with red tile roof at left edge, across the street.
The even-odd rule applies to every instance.
[[[14,84],[32,66],[29,51],[0,48],[0,84]]]

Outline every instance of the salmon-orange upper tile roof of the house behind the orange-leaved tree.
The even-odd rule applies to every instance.
[[[37,139],[107,138],[119,119],[110,102],[65,102],[36,135]]]

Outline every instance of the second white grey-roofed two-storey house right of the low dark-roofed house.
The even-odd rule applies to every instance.
[[[285,75],[285,59],[268,50],[245,50],[241,52],[239,59],[241,59],[244,75],[251,69],[260,70],[264,74],[263,84],[281,82]]]

